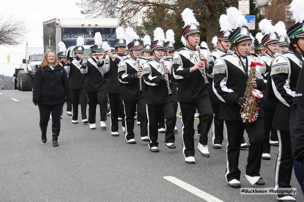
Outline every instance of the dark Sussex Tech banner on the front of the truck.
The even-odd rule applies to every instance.
[[[75,46],[78,36],[85,39],[85,45],[94,45],[94,36],[100,32],[102,40],[107,40],[114,47],[116,28],[61,28],[61,38],[66,47]]]

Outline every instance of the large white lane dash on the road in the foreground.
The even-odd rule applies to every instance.
[[[182,180],[179,180],[177,179],[176,177],[173,177],[173,176],[164,176],[163,177],[164,179],[176,184],[177,186],[195,194],[196,196],[208,201],[208,202],[224,202],[212,195],[210,195],[209,193],[206,193],[202,190],[199,190],[198,188],[196,187],[193,187],[192,185],[188,184],[188,183],[185,183],[184,181]]]

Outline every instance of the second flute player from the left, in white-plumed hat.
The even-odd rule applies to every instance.
[[[111,50],[108,42],[102,42],[100,32],[94,36],[95,45],[90,49],[97,53],[96,57],[84,58],[81,66],[81,73],[85,74],[85,84],[83,91],[86,92],[89,101],[89,125],[90,129],[96,128],[96,107],[99,103],[100,126],[106,129],[105,121],[107,120],[107,94],[105,93],[105,78],[103,77],[102,66],[105,66],[103,56],[105,51]]]

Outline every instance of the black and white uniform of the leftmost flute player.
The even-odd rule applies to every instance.
[[[78,104],[80,101],[81,107],[81,118],[87,119],[87,102],[88,98],[85,92],[83,91],[84,78],[83,74],[81,74],[80,69],[82,66],[83,60],[76,60],[76,58],[72,61],[72,63],[67,62],[64,66],[66,72],[69,72],[69,80],[73,94],[72,103],[72,120],[78,120]]]

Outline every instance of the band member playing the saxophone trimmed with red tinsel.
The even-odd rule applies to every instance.
[[[244,92],[249,78],[256,76],[256,78],[250,79],[252,80],[250,86],[260,90],[265,87],[261,74],[262,67],[260,66],[263,66],[264,62],[257,55],[252,55],[252,57],[248,55],[252,39],[249,29],[244,26],[246,23],[244,16],[233,7],[227,9],[227,16],[233,29],[228,39],[235,52],[218,57],[213,68],[213,91],[222,101],[219,118],[225,120],[227,128],[227,169],[225,176],[230,187],[240,188],[241,172],[238,169],[238,159],[241,139],[244,129],[246,129],[250,147],[244,177],[251,184],[264,185],[265,183],[259,173],[264,145],[263,110],[259,108],[258,117],[254,113],[253,117],[248,117],[248,120],[243,120],[240,115],[240,108],[248,105],[248,99],[244,98],[246,96]],[[250,76],[248,73],[252,66],[256,67],[254,76]],[[257,107],[260,105],[261,103]],[[251,123],[244,123],[243,121]]]

